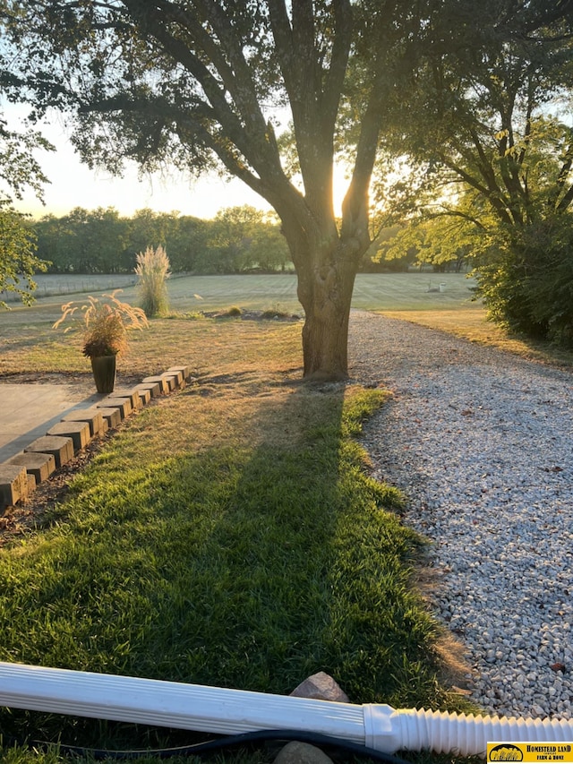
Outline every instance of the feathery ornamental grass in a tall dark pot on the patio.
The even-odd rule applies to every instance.
[[[114,391],[115,359],[127,349],[127,330],[143,329],[148,325],[141,308],[117,299],[116,295],[121,291],[115,289],[110,295],[102,295],[101,299],[89,296],[84,305],[66,303],[62,305],[62,316],[54,324],[57,329],[64,322],[70,322],[64,331],[81,328],[81,352],[90,358],[98,392]]]

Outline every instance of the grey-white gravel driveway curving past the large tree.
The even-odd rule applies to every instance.
[[[349,357],[355,380],[393,391],[363,445],[432,541],[432,605],[466,646],[472,699],[571,718],[573,374],[363,312]]]

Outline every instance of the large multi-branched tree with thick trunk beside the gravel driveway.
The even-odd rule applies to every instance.
[[[347,373],[355,272],[370,245],[369,186],[384,105],[410,68],[426,4],[399,0],[34,0],[9,3],[10,80],[38,112],[72,110],[91,164],[216,160],[277,211],[304,306],[304,375]],[[422,10],[420,10],[422,9]],[[350,180],[333,209],[337,137]],[[276,134],[290,120],[300,182]]]

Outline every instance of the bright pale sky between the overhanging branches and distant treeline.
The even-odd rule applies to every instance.
[[[13,129],[22,129],[23,107],[4,105],[4,116]],[[68,140],[64,124],[56,118],[38,126],[38,131],[56,146],[55,152],[37,151],[35,156],[50,180],[44,188],[42,205],[33,192],[26,193],[14,207],[38,219],[53,214],[62,217],[74,207],[95,210],[115,207],[120,215],[131,217],[136,210],[150,208],[156,212],[180,212],[197,218],[214,218],[218,210],[251,204],[261,210],[269,205],[248,186],[234,179],[227,181],[215,174],[199,180],[185,179],[175,170],[171,176],[138,176],[135,164],[123,178],[110,176],[105,170],[90,170],[81,163]]]

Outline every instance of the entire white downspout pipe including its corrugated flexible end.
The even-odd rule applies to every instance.
[[[0,705],[215,734],[297,730],[384,753],[483,755],[488,742],[573,741],[573,720],[474,717],[0,663]]]

